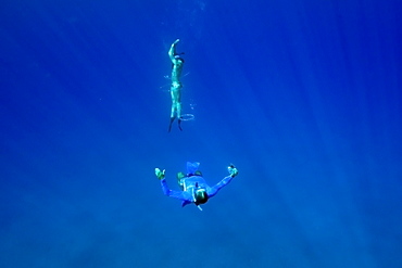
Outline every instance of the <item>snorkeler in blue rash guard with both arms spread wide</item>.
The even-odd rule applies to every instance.
[[[180,187],[181,191],[171,190],[166,183],[165,169],[161,170],[159,168],[155,168],[155,175],[158,179],[161,180],[163,193],[167,196],[181,200],[181,206],[193,203],[197,205],[198,208],[200,208],[200,210],[202,210],[200,204],[206,203],[209,199],[213,197],[224,186],[229,183],[231,179],[239,174],[234,165],[229,165],[227,167],[229,176],[225,177],[216,186],[209,187],[204,178],[202,178],[199,166],[200,163],[198,162],[187,162],[187,175],[184,173],[177,174],[177,183]]]

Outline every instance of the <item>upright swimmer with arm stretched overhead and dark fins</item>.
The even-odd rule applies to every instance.
[[[172,97],[172,111],[171,111],[171,123],[168,125],[168,132],[171,132],[172,124],[177,118],[178,128],[181,129],[181,88],[180,82],[181,69],[185,60],[180,56],[184,53],[176,52],[176,44],[179,39],[174,41],[168,50],[168,56],[172,61],[172,85],[171,85],[171,97]]]

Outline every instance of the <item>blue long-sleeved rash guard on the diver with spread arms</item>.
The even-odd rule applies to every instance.
[[[162,187],[164,194],[171,197],[181,200],[183,201],[181,206],[186,206],[188,204],[194,203],[193,192],[197,188],[205,189],[209,199],[211,199],[224,186],[229,183],[231,179],[233,179],[231,176],[227,176],[223,180],[221,180],[216,186],[209,187],[204,178],[202,178],[201,176],[189,176],[183,179],[184,180],[184,191],[174,191],[168,188],[166,179],[163,178],[161,180],[161,187]]]

